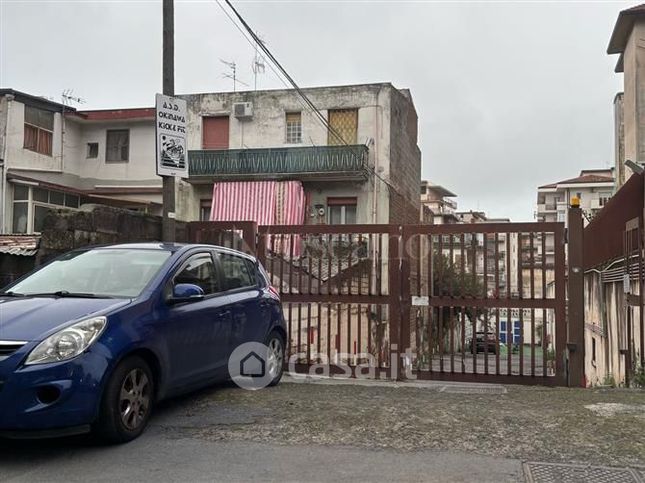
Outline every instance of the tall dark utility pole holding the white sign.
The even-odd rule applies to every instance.
[[[175,13],[174,0],[163,0],[163,94],[175,95]],[[162,225],[164,242],[175,241],[175,178],[162,176]]]

